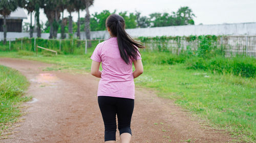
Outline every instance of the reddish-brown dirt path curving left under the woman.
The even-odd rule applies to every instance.
[[[42,71],[54,66],[35,61],[0,58],[0,64],[22,72],[37,99],[10,139],[0,142],[103,142],[104,127],[97,104],[99,79],[89,74]],[[132,142],[231,142],[223,131],[206,129],[173,101],[136,88]],[[119,141],[117,132],[117,142]]]

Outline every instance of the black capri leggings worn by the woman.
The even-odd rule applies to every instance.
[[[120,135],[122,133],[132,135],[130,126],[134,99],[98,96],[98,103],[105,126],[105,141],[116,140],[116,115]]]

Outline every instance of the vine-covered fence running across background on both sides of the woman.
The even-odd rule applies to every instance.
[[[207,36],[206,36],[207,38]],[[97,40],[78,40],[78,39],[41,39],[41,38],[19,38],[7,39],[7,44],[2,45],[0,50],[34,50],[36,45],[55,49],[63,53],[87,53],[87,48],[102,42],[104,39]],[[145,47],[145,50],[169,51],[180,54],[182,52],[195,52],[202,46],[202,39],[196,36],[190,37],[139,37],[136,39]],[[226,56],[233,54],[244,54],[256,57],[256,36],[211,36],[208,46],[213,50],[218,50]],[[3,47],[5,46],[5,47]]]

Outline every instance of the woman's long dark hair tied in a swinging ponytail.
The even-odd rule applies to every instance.
[[[123,61],[126,64],[130,64],[129,59],[137,60],[139,50],[136,47],[144,48],[144,46],[134,41],[131,36],[125,32],[123,17],[118,14],[111,14],[106,19],[106,27],[110,28],[112,37],[117,37],[118,48]]]

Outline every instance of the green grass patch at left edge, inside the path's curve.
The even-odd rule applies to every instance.
[[[8,128],[22,115],[20,103],[31,99],[23,96],[28,85],[26,77],[17,70],[0,66],[0,138],[6,137]]]

